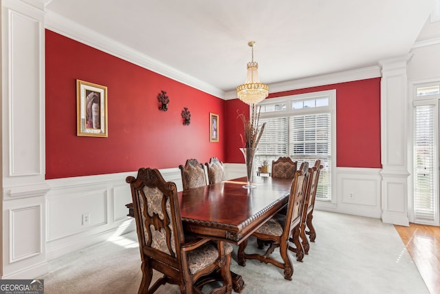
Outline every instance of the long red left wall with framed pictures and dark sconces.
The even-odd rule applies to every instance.
[[[46,178],[164,169],[188,158],[225,161],[225,102],[46,30]],[[76,79],[107,86],[108,138],[76,136]],[[157,94],[170,98],[159,111]],[[189,126],[181,111],[188,107]],[[209,113],[219,143],[209,142]]]

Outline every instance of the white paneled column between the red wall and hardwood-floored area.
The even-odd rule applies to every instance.
[[[408,226],[408,91],[412,54],[380,61],[382,221]]]

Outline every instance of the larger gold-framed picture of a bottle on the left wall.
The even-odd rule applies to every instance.
[[[76,136],[107,137],[107,87],[76,80]]]

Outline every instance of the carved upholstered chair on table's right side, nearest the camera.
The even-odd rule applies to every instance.
[[[292,187],[290,189],[289,202],[287,203],[287,214],[277,213],[252,233],[252,235],[257,238],[259,249],[262,249],[263,242],[267,241],[270,242],[269,248],[263,255],[259,253],[247,254],[245,253],[245,249],[248,245],[248,240],[245,240],[240,244],[237,253],[239,264],[241,266],[245,266],[247,259],[255,259],[260,262],[271,263],[284,270],[284,278],[286,280],[292,280],[294,268],[289,257],[289,237],[291,235],[297,236],[298,238],[294,238],[294,240],[296,240],[295,245],[297,248],[302,246],[301,242],[299,242],[299,234],[300,222],[304,209],[307,178],[309,176],[308,166],[309,164],[307,162],[303,162],[301,169],[295,173]],[[279,248],[283,262],[279,262],[270,257],[270,253],[276,248]],[[301,256],[298,252],[296,254],[298,261],[301,261],[303,256],[304,254]]]

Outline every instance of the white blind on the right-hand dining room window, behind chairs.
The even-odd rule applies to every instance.
[[[316,190],[316,198],[330,200],[331,119],[329,113],[289,117],[289,154],[298,162],[313,166],[320,159],[323,169]]]

